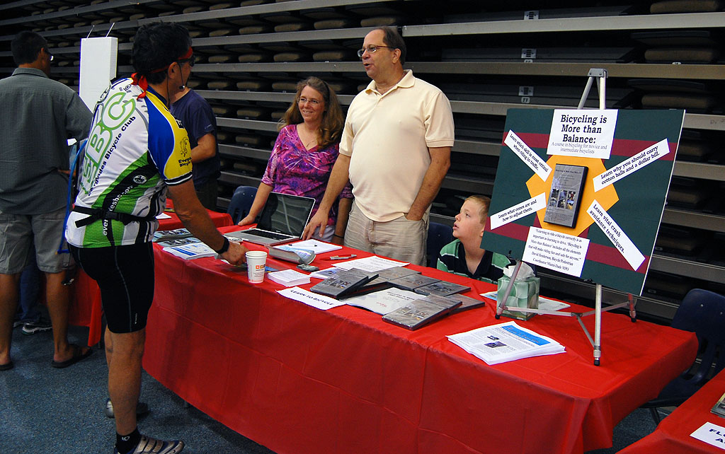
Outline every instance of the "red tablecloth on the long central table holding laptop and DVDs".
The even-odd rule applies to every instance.
[[[320,311],[283,298],[281,285],[250,285],[246,272],[213,258],[154,252],[157,292],[144,368],[212,418],[282,454],[610,447],[613,426],[654,398],[697,350],[692,333],[605,313],[597,367],[576,319],[539,315],[519,323],[558,340],[566,353],[487,366],[445,335],[507,321],[494,319],[493,306],[409,332],[360,308]],[[493,288],[413,267],[475,293]],[[594,317],[585,324],[593,332]]]

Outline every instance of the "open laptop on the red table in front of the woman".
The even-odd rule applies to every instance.
[[[311,197],[270,193],[257,220],[257,227],[226,235],[268,246],[299,240],[310,221],[314,205],[315,199]]]

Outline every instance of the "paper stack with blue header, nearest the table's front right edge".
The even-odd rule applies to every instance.
[[[559,342],[522,328],[515,321],[462,332],[448,336],[448,340],[491,365],[564,353],[564,346]]]

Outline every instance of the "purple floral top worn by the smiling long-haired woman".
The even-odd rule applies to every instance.
[[[297,125],[287,125],[277,136],[262,182],[271,186],[276,193],[314,198],[315,207],[312,209],[314,216],[325,195],[330,172],[338,154],[339,143],[322,149],[315,146],[307,151],[297,135]],[[352,187],[349,182],[339,198],[352,198]],[[330,210],[327,224],[335,225],[336,222],[337,203]]]

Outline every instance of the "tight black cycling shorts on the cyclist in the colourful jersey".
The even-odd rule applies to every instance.
[[[146,327],[154,300],[154,249],[152,243],[107,248],[76,248],[75,261],[98,282],[111,332],[134,332]]]

